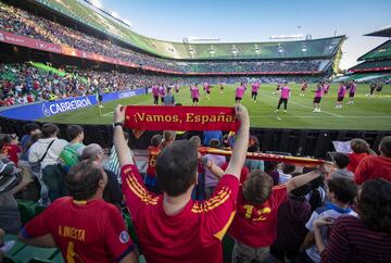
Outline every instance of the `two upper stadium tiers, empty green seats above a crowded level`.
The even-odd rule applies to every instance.
[[[74,58],[86,63],[105,63],[176,76],[302,75],[323,78],[338,70],[345,39],[345,36],[336,36],[273,42],[173,42],[139,35],[85,1],[5,1],[1,3],[4,15],[9,3],[28,11],[28,16],[23,17],[26,24],[49,21],[64,26],[64,36],[70,35],[64,39],[53,30],[40,33],[36,28],[31,34],[0,28],[0,41],[12,46],[9,58],[15,55],[16,46],[34,50],[29,52],[38,50],[39,55],[46,55],[46,60],[54,64],[61,61],[55,58],[62,55],[65,61]],[[18,18],[12,17],[14,12],[8,15]],[[91,47],[93,45],[96,47]]]

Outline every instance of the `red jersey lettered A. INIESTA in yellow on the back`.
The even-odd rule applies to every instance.
[[[26,238],[51,234],[66,262],[118,262],[135,249],[119,210],[102,199],[56,199],[26,224]]]

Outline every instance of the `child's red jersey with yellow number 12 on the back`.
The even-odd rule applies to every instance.
[[[287,187],[275,186],[263,204],[252,205],[244,201],[240,187],[237,214],[229,227],[229,235],[253,248],[269,247],[277,235],[278,208],[286,200]]]

